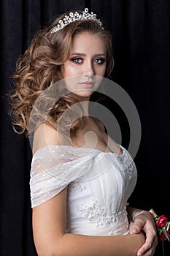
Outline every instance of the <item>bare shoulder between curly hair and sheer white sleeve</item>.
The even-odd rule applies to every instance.
[[[58,132],[48,124],[41,124],[34,132],[33,154],[45,146],[60,145]]]

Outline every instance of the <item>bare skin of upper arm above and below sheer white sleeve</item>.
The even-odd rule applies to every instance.
[[[34,133],[33,154],[45,146],[59,144],[58,132],[47,124],[42,124]],[[66,230],[66,188],[45,203],[34,207],[32,214],[36,250],[41,256],[48,255],[53,247],[50,245],[57,243]]]

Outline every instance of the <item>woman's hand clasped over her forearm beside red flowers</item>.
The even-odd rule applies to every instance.
[[[130,233],[139,233],[141,230],[145,233],[146,240],[137,252],[137,256],[152,256],[158,244],[158,236],[154,219],[149,211],[144,211],[134,218],[134,222],[130,222]]]

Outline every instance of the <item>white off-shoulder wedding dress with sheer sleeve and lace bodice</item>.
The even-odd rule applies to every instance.
[[[39,206],[68,187],[66,232],[90,236],[128,233],[126,206],[136,167],[122,155],[94,148],[47,146],[31,164],[31,205]]]

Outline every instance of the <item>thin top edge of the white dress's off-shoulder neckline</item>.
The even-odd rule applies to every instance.
[[[123,146],[121,146],[120,144],[117,144],[118,146],[120,146],[120,148],[123,151],[123,154],[116,154],[115,152],[112,151],[102,151],[98,148],[88,148],[88,147],[79,147],[79,146],[72,146],[72,145],[49,145],[49,146],[44,146],[42,148],[39,148],[33,155],[33,157],[36,157],[36,154],[39,154],[40,151],[45,151],[47,148],[74,148],[74,149],[78,149],[78,150],[85,150],[85,151],[98,151],[100,154],[114,154],[116,157],[123,157],[125,155],[125,148],[123,148]]]

